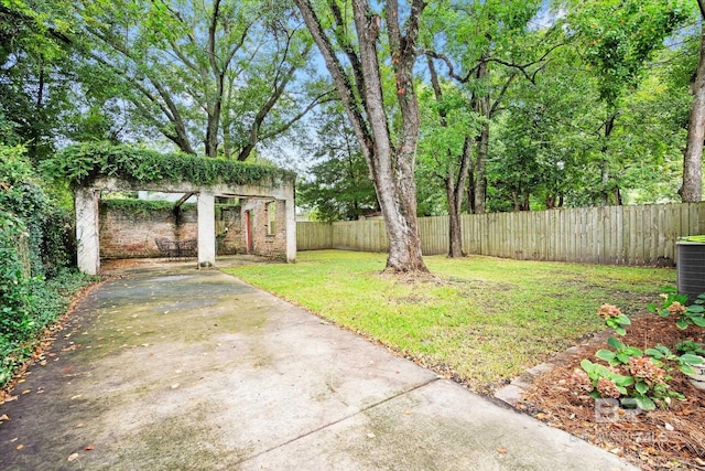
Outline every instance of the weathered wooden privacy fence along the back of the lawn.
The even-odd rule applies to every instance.
[[[424,255],[448,250],[448,216],[421,217]],[[460,217],[467,254],[523,260],[670,266],[679,237],[705,234],[705,202]],[[384,222],[297,223],[299,250],[389,249]]]

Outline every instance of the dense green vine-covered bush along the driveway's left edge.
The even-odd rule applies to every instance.
[[[0,146],[0,387],[88,281],[70,269],[70,232],[23,148]]]

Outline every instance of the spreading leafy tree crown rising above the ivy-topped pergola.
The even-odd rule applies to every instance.
[[[327,96],[283,1],[80,1],[91,89],[186,153],[246,160]],[[311,73],[311,71],[306,71]],[[85,75],[84,75],[85,76]]]

